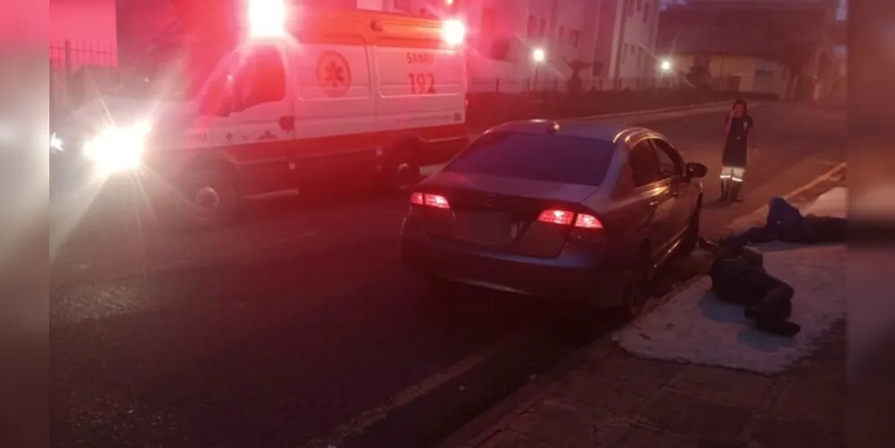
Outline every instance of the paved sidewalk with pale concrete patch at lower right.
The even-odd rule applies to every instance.
[[[844,189],[834,189],[803,210],[842,216],[844,198]],[[803,325],[803,333],[795,340],[755,342],[761,335],[751,334],[742,310],[722,316],[720,323],[700,324],[718,316],[692,301],[694,294],[706,295],[706,285],[696,281],[616,332],[617,343],[595,341],[443,446],[844,446],[845,325],[839,306],[844,310],[845,292],[813,288],[812,278],[818,270],[834,281],[844,275],[844,256],[839,255],[845,248],[775,245],[763,250],[769,271],[796,289],[793,320]],[[706,329],[716,333],[707,336]],[[656,340],[651,349],[665,351],[644,349]],[[739,368],[726,367],[732,364]]]

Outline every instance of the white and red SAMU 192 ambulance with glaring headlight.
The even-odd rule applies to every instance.
[[[462,22],[283,1],[156,51],[151,76],[76,111],[51,145],[204,225],[320,183],[407,191],[465,146]]]

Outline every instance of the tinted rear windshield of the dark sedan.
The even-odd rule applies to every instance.
[[[486,134],[446,170],[563,184],[601,185],[615,143],[556,134]]]

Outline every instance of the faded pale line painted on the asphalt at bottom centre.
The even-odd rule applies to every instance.
[[[330,439],[326,441],[320,439],[311,440],[308,443],[303,444],[302,448],[324,448],[329,446],[339,446],[343,444],[343,442],[350,435],[363,433],[365,429],[386,419],[393,410],[399,409],[412,403],[426,393],[438,389],[442,385],[450,382],[453,379],[456,379],[460,375],[464,375],[466,372],[469,372],[475,366],[482,364],[483,361],[491,358],[491,356],[497,354],[501,349],[505,349],[508,345],[508,342],[509,340],[501,340],[500,342],[492,344],[491,346],[482,349],[482,351],[475,353],[470,357],[461,359],[453,366],[450,366],[447,369],[442,370],[434,375],[430,375],[428,378],[423,379],[421,382],[415,383],[410,387],[404,389],[403,391],[398,392],[387,401],[379,403],[378,406],[361,412],[360,415],[352,418],[349,423],[336,427],[335,430],[330,433]],[[461,386],[458,392],[463,391],[464,389]]]

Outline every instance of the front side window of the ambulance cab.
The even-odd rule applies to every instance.
[[[253,108],[286,97],[286,67],[279,48],[254,47],[233,77],[233,110]]]

